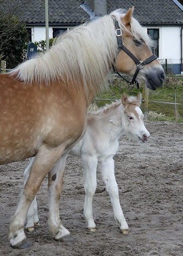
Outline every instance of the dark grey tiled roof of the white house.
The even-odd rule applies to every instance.
[[[84,0],[49,0],[50,24],[81,24],[90,16],[81,7]],[[44,24],[45,0],[2,0],[0,10],[8,13],[14,9],[21,21]],[[135,6],[134,17],[142,25],[183,24],[183,12],[172,0],[107,0],[107,13]]]

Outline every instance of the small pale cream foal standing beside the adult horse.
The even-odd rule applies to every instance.
[[[144,126],[144,115],[140,105],[141,94],[138,94],[137,97],[128,97],[123,94],[122,102],[113,102],[113,104],[107,105],[97,112],[88,113],[86,132],[68,153],[81,157],[83,162],[85,176],[83,213],[90,231],[95,231],[96,226],[93,219],[92,202],[96,190],[96,167],[99,165],[102,179],[111,198],[115,220],[119,223],[122,233],[128,232],[128,224],[119,203],[113,156],[118,150],[118,140],[123,134],[130,135],[135,140],[140,140],[141,143],[145,143],[150,137],[150,133]],[[33,161],[34,157],[24,172],[25,182],[31,171]],[[64,168],[65,163],[63,163],[62,170]],[[28,210],[27,230],[33,231],[34,225],[39,225],[36,198]]]

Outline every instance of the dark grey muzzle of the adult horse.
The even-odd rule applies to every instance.
[[[149,72],[146,75],[146,85],[147,88],[151,90],[156,90],[157,88],[161,87],[163,85],[165,74],[164,70],[160,69],[155,72]]]

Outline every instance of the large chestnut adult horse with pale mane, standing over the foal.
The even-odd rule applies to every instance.
[[[69,239],[70,232],[62,226],[59,216],[63,171],[55,175],[53,166],[60,165],[60,157],[64,159],[84,134],[88,106],[105,88],[112,66],[128,75],[140,70],[137,78],[144,80],[148,88],[163,84],[163,68],[152,56],[150,37],[132,18],[133,10],[126,14],[116,10],[78,26],[58,38],[44,55],[1,75],[0,164],[35,156],[9,228],[13,247],[26,243],[27,211],[48,172],[48,190],[52,194],[49,231],[57,240]]]

